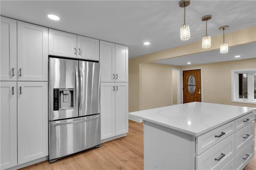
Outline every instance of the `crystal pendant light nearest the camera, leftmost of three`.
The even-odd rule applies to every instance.
[[[179,4],[180,8],[184,8],[184,24],[180,25],[180,39],[181,41],[186,41],[190,39],[190,28],[189,25],[185,23],[186,6],[189,6],[190,0],[182,0]]]

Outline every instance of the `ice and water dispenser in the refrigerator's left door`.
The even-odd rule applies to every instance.
[[[74,88],[54,88],[53,110],[74,109]]]

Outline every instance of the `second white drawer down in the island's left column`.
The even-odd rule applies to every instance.
[[[216,166],[225,166],[235,153],[235,135],[220,141],[199,156],[196,156],[196,170],[211,170]]]

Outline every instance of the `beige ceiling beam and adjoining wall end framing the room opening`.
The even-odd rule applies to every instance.
[[[141,64],[218,49],[220,42],[223,41],[222,39],[222,35],[212,37],[212,47],[210,49],[202,49],[202,42],[198,41],[184,46],[129,59],[129,112],[138,111],[140,110],[140,107],[142,108],[143,106]],[[228,41],[229,46],[254,42],[256,41],[256,26],[226,33],[225,39]]]

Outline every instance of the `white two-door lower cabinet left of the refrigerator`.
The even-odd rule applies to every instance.
[[[48,82],[0,83],[1,169],[47,156]]]

